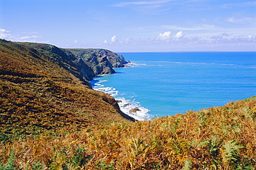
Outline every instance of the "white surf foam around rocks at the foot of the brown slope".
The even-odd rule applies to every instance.
[[[110,96],[116,98],[122,112],[135,118],[136,120],[150,120],[153,118],[153,116],[149,114],[150,110],[142,107],[139,102],[135,101],[135,98],[132,101],[127,100],[126,98],[121,97],[122,94],[120,94],[120,92],[118,92],[118,90],[116,90],[114,87],[104,87],[104,85],[101,83],[105,81],[97,81],[95,78],[93,81],[91,81],[91,86],[93,89],[98,92],[104,92],[105,94],[109,94]]]

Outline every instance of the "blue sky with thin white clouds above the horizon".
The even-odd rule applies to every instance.
[[[114,52],[256,51],[256,1],[0,0],[0,39]]]

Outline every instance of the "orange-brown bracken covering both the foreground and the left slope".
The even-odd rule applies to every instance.
[[[0,43],[0,169],[256,168],[256,96],[132,123],[46,54]]]

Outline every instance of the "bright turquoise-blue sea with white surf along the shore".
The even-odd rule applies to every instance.
[[[126,52],[116,74],[93,89],[118,101],[136,120],[185,114],[256,95],[256,52]]]

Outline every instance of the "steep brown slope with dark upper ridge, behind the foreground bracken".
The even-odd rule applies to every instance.
[[[71,52],[53,45],[38,46],[0,40],[2,141],[24,134],[129,122],[113,97],[89,88],[80,70],[86,72],[90,67],[76,65],[80,61]],[[48,54],[46,47],[51,47]]]

